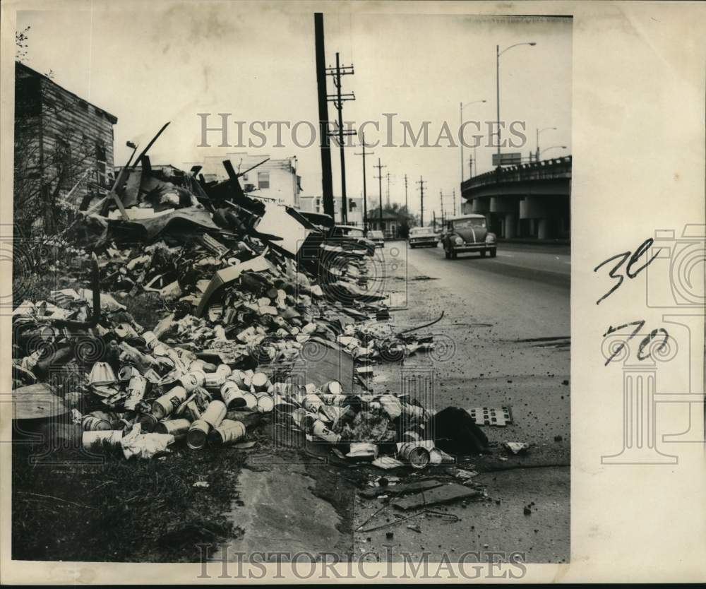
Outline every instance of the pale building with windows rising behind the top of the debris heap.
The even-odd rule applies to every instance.
[[[245,172],[240,178],[240,184],[249,196],[299,208],[301,177],[297,176],[297,157],[268,160],[258,165],[267,158],[268,155],[252,155],[245,152],[225,153],[207,155],[203,162],[190,162],[189,166],[203,166],[200,173],[207,182],[225,180],[228,174],[223,167],[223,161],[230,160],[236,172]],[[246,170],[249,171],[246,172]]]

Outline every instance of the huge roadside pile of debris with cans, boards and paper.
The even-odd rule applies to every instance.
[[[152,169],[146,152],[164,128],[70,227],[91,288],[13,311],[14,396],[35,407],[19,419],[70,415],[86,446],[143,458],[180,440],[237,444],[267,415],[287,437],[381,468],[487,446],[465,410],[373,393],[371,364],[433,341],[376,321],[388,307],[367,288],[371,242],[335,234],[325,215],[247,196],[239,178],[249,170],[228,161],[223,182],[198,167]],[[119,302],[144,292],[166,308],[151,331]],[[40,398],[51,415],[37,413]]]

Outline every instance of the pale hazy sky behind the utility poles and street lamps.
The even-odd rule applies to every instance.
[[[150,150],[155,164],[190,167],[205,155],[248,151],[254,155],[297,156],[303,194],[321,194],[321,155],[318,143],[297,146],[282,129],[282,147],[275,147],[276,129],[270,129],[262,148],[218,148],[220,133],[209,133],[210,148],[201,143],[201,117],[210,113],[210,126],[220,124],[217,113],[229,113],[229,143],[237,141],[235,121],[244,121],[242,138],[259,143],[249,133],[252,121],[318,120],[313,13],[303,5],[201,1],[144,4],[76,1],[71,11],[23,11],[18,29],[30,26],[25,62],[42,73],[52,71],[54,81],[118,117],[115,164],[126,161],[126,141],[148,143],[162,124],[172,121]],[[378,133],[366,127],[366,142],[381,141],[366,157],[369,202],[377,203],[378,179],[373,165],[385,166],[383,202],[390,173],[390,201],[407,202],[419,212],[419,181],[424,179],[424,209],[441,214],[441,196],[448,211],[452,191],[459,198],[461,150],[457,146],[460,103],[464,120],[496,120],[496,45],[501,51],[501,119],[522,121],[527,156],[535,149],[535,130],[546,127],[540,146],[542,157],[568,155],[571,148],[571,45],[570,18],[458,16],[366,12],[364,4],[330,3],[324,8],[327,65],[354,66],[343,78],[342,91],[355,93],[345,102],[345,121],[357,128],[378,121]],[[126,9],[127,8],[127,9]],[[472,8],[472,5],[469,6]],[[329,81],[328,92],[335,88]],[[486,102],[479,102],[486,100]],[[385,113],[388,117],[385,118]],[[393,117],[392,114],[395,114]],[[329,117],[336,110],[329,105]],[[385,146],[386,121],[392,119],[391,142]],[[408,121],[414,134],[429,121],[429,146],[402,147]],[[455,145],[443,136],[444,124]],[[309,142],[306,124],[299,126],[300,144]],[[515,129],[521,130],[520,127]],[[467,127],[466,141],[478,134]],[[509,138],[503,131],[503,138]],[[477,148],[477,171],[491,169],[495,147]],[[515,141],[518,141],[515,138]],[[359,138],[352,141],[358,143]],[[408,138],[407,143],[411,143]],[[360,148],[346,150],[347,194],[363,190]],[[464,148],[464,178],[469,175],[472,148]],[[340,157],[332,150],[333,186],[340,195]],[[371,200],[370,200],[371,199]]]

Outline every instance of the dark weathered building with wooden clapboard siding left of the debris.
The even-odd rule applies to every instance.
[[[105,192],[117,117],[15,63],[15,218],[56,229],[88,192]],[[73,192],[71,192],[73,189]],[[70,202],[64,199],[71,192]]]

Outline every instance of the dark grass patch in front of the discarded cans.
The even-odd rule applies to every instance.
[[[107,453],[93,465],[76,451],[32,465],[32,453],[13,448],[13,559],[193,562],[196,544],[239,535],[223,514],[237,499],[243,451],[179,447],[164,460]],[[200,480],[209,487],[193,487]]]

